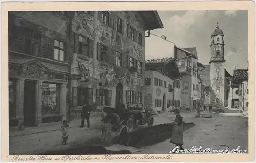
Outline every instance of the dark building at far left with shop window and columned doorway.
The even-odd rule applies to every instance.
[[[9,12],[9,125],[66,117],[73,56],[67,12]]]

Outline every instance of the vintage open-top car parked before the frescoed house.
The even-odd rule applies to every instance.
[[[129,131],[132,131],[135,126],[147,124],[150,127],[154,122],[153,114],[148,111],[143,111],[139,105],[126,109],[104,107],[103,111],[106,113],[105,118],[109,117],[111,119],[113,130],[117,130],[118,126],[122,124],[127,125]]]

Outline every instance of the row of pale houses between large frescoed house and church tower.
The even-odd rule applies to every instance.
[[[145,108],[155,112],[174,108],[195,110],[202,102],[200,72],[204,66],[198,62],[196,48],[173,46],[173,57],[145,62]]]

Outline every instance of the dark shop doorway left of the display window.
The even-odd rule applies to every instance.
[[[25,81],[24,84],[24,123],[26,127],[35,126],[35,81]]]

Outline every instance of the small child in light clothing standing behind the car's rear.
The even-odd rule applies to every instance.
[[[109,146],[110,143],[110,138],[111,138],[111,119],[109,117],[106,117],[104,119],[104,124],[103,124],[103,128],[102,128],[102,137],[101,137],[101,141]]]

